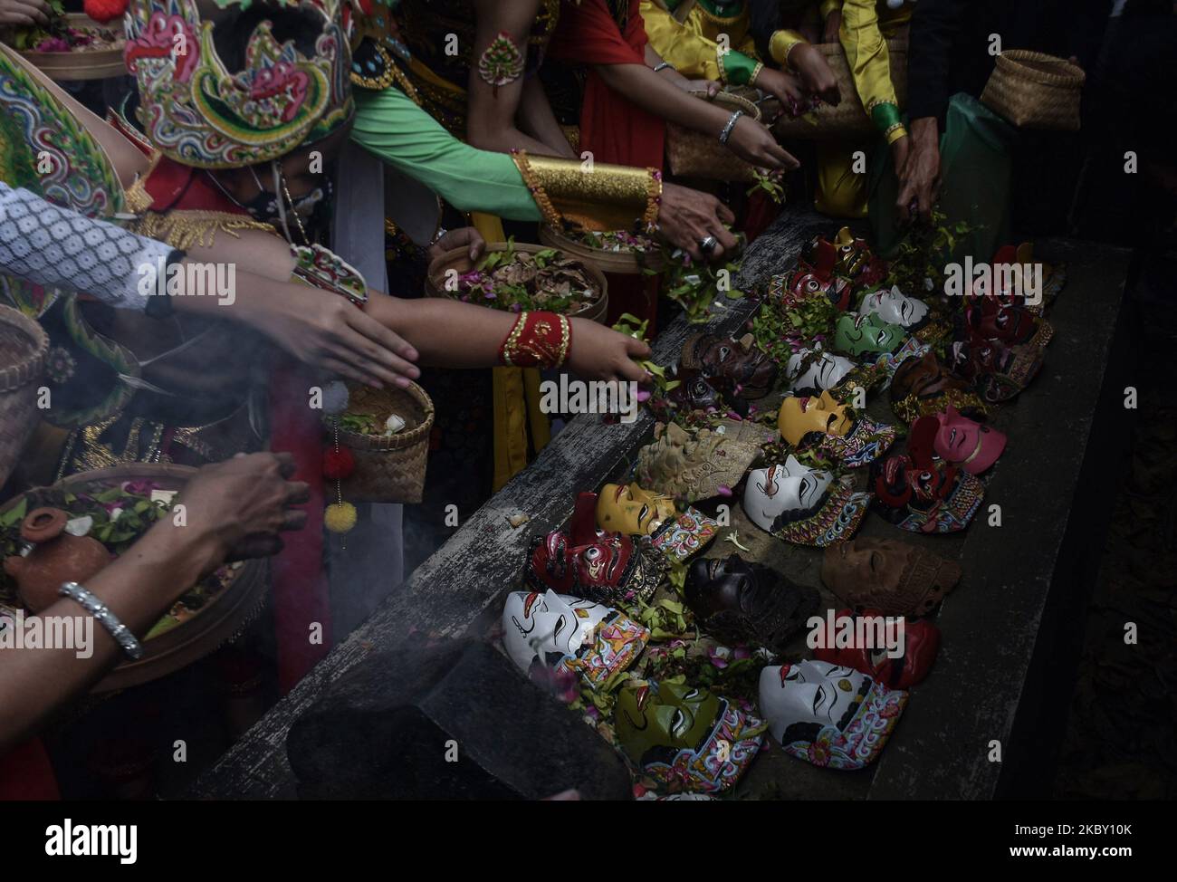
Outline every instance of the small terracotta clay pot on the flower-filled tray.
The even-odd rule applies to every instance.
[[[25,557],[5,558],[4,570],[14,579],[20,599],[40,612],[58,599],[62,582],[80,582],[111,563],[111,552],[89,536],[65,531],[69,515],[61,509],[34,509],[20,524],[20,537],[36,548]]]

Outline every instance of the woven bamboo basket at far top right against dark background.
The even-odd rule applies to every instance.
[[[1053,55],[1009,49],[997,57],[980,102],[1020,128],[1076,132],[1083,68]]]

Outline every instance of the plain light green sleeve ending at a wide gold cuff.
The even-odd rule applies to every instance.
[[[445,131],[399,88],[357,88],[352,140],[427,186],[459,211],[540,220],[506,153],[476,150]]]

